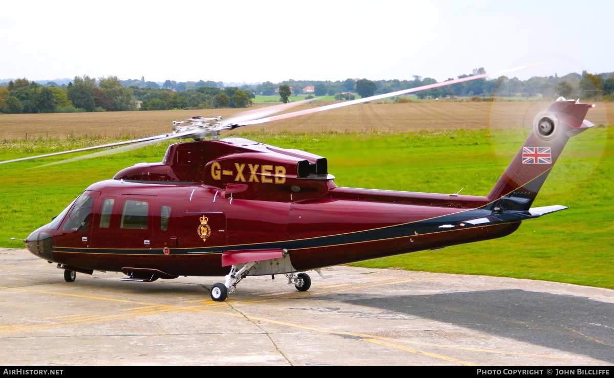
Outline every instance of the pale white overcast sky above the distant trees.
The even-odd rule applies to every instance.
[[[0,0],[0,79],[445,80],[614,71],[610,1]]]

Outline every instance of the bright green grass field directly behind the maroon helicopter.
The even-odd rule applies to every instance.
[[[346,187],[486,195],[522,145],[524,130],[414,133],[243,133],[242,137],[328,158]],[[534,206],[570,209],[524,222],[503,239],[365,261],[370,268],[484,274],[614,288],[614,127],[573,137]],[[0,142],[0,160],[101,144],[108,139]],[[0,165],[0,246],[21,248],[88,185],[126,166],[160,161],[165,145],[80,163],[28,169],[51,159]],[[56,159],[57,160],[57,159]]]

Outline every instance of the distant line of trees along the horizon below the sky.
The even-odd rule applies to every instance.
[[[484,68],[473,70],[479,75]],[[453,80],[452,78],[448,80]],[[119,80],[116,76],[76,76],[68,85],[57,86],[53,82],[41,85],[27,79],[11,80],[0,84],[0,112],[53,113],[53,112],[103,112],[121,110],[169,110],[212,109],[219,107],[248,107],[255,95],[279,95],[280,101],[289,101],[290,95],[301,95],[303,89],[314,87],[315,96],[335,96],[337,100],[354,99],[397,90],[421,87],[436,83],[430,77],[414,75],[413,80],[346,79],[331,81],[285,80],[275,84],[270,81],[241,87],[223,87],[222,82],[212,80],[175,82],[166,80],[162,86],[141,80]],[[276,93],[278,90],[280,93]],[[529,80],[508,78],[476,79],[447,87],[432,88],[416,93],[418,98],[446,98],[454,96],[530,98],[542,95],[546,98],[604,98],[614,101],[614,72],[602,74],[572,73],[564,77],[532,77]]]

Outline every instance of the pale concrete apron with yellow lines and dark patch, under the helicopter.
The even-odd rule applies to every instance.
[[[335,266],[311,289],[247,277],[151,283],[0,249],[4,366],[613,366],[614,290]]]

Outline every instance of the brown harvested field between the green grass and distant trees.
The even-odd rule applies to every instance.
[[[314,102],[313,106],[321,106]],[[279,131],[417,131],[421,129],[521,128],[550,102],[412,102],[348,106],[249,128]],[[266,106],[257,104],[254,107]],[[253,108],[252,108],[253,109]],[[297,109],[304,109],[303,106]],[[144,137],[171,131],[171,122],[194,115],[229,117],[245,109],[158,110],[72,114],[0,114],[0,139],[68,136]],[[614,103],[599,102],[591,122],[614,122]],[[27,134],[27,135],[26,135]]]

